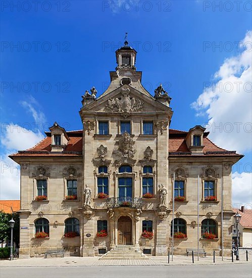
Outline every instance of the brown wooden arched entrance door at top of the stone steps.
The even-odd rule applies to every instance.
[[[118,219],[118,244],[132,245],[132,221],[128,216]]]

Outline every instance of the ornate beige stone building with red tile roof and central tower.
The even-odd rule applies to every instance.
[[[199,246],[220,251],[223,180],[223,244],[229,252],[231,167],[242,156],[217,147],[201,126],[169,129],[171,98],[162,85],[154,97],[144,89],[127,41],[116,59],[108,89],[98,98],[94,87],[82,96],[83,130],[55,123],[35,147],[11,156],[21,165],[20,256],[50,248],[96,256],[116,245],[166,255],[174,173],[175,254],[197,247],[198,176]]]

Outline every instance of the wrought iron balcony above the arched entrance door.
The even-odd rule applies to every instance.
[[[107,199],[107,208],[141,208],[142,198],[132,198],[132,197],[112,197]]]

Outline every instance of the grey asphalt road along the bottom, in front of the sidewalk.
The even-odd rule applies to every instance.
[[[20,278],[240,278],[252,277],[251,264],[170,266],[1,267],[0,277]]]

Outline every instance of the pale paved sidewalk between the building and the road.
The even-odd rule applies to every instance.
[[[207,256],[194,257],[194,265],[211,265],[211,264],[239,264],[239,263],[251,263],[252,254],[248,254],[248,261],[246,261],[246,255],[240,254],[240,260],[232,262],[231,257],[224,257],[222,261],[221,257],[216,257],[215,263],[213,257]],[[149,257],[148,260],[99,260],[99,257],[64,257],[64,258],[30,258],[30,259],[15,259],[13,261],[1,260],[1,267],[73,267],[73,266],[120,266],[120,265],[193,265],[192,257],[186,256],[174,256],[173,261],[170,257],[170,263],[168,264],[168,258],[161,256]]]

